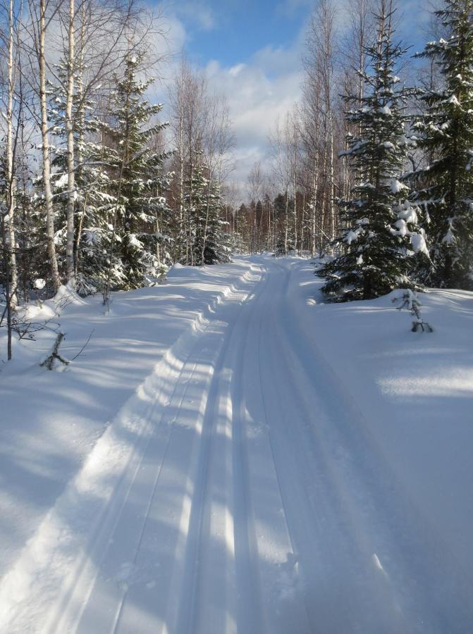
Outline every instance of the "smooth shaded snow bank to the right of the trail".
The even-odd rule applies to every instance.
[[[321,284],[309,263],[297,266],[290,318],[311,341],[314,363],[327,363],[360,413],[362,433],[429,534],[473,587],[473,293],[419,294],[434,332],[414,333],[392,294],[323,304]]]

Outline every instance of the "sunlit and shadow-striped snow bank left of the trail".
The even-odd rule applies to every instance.
[[[0,577],[20,561],[66,485],[80,477],[81,466],[91,456],[98,466],[106,463],[107,451],[97,453],[94,447],[110,433],[109,421],[121,420],[128,399],[149,402],[143,397],[149,394],[147,380],[155,381],[166,353],[185,333],[191,336],[206,311],[242,285],[252,267],[249,259],[219,267],[180,266],[165,286],[113,294],[109,313],[101,297],[82,299],[66,287],[54,300],[28,308],[29,317],[47,329],[37,332],[35,342],[15,341],[13,361],[1,364]],[[60,351],[66,359],[78,354],[88,337],[90,343],[66,371],[48,372],[39,363],[51,352],[59,328],[66,333]],[[5,352],[1,329],[0,354]],[[91,499],[106,495],[105,484],[90,492]],[[27,565],[43,560],[40,544],[35,542],[39,551]],[[28,592],[25,570],[12,574],[12,588]]]

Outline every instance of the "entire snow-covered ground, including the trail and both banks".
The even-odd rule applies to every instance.
[[[66,371],[49,330],[1,371],[1,633],[473,631],[473,294],[422,295],[413,333],[313,272],[37,309],[69,359],[93,332]]]

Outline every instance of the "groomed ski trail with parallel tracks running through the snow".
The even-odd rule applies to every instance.
[[[471,579],[302,336],[297,266],[253,264],[166,355],[2,583],[1,632],[472,631]]]

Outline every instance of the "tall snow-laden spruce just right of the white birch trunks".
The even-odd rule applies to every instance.
[[[123,77],[115,77],[106,126],[115,166],[111,193],[117,199],[109,266],[120,271],[123,289],[145,285],[162,272],[156,244],[164,236],[156,231],[156,218],[169,213],[163,195],[168,186],[163,168],[168,154],[152,148],[168,124],[151,122],[162,106],[152,105],[144,97],[154,80],[138,79],[143,59],[143,54],[126,56]]]

